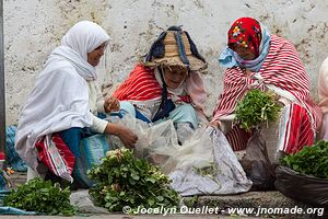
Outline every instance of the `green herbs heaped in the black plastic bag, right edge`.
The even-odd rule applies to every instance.
[[[297,153],[281,159],[281,164],[302,174],[328,178],[328,141],[320,140],[313,147],[304,147]]]

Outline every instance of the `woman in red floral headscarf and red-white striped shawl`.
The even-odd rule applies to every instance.
[[[250,134],[223,120],[234,118],[237,102],[249,89],[272,90],[284,106],[277,151],[294,153],[313,143],[323,113],[311,99],[308,78],[292,43],[270,34],[255,19],[241,18],[227,33],[219,64],[226,68],[224,88],[211,124],[224,130],[233,150],[244,150]]]

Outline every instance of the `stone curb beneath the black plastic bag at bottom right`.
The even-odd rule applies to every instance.
[[[313,212],[314,208],[323,208],[323,207],[315,207],[300,201],[295,201],[291,198],[283,196],[280,192],[277,191],[249,192],[245,194],[224,195],[224,196],[199,196],[197,199],[196,197],[185,197],[184,201],[189,207],[203,207],[203,206],[219,207],[223,215],[229,214],[229,209],[232,208],[232,209],[244,209],[244,212],[239,211],[242,214],[234,214],[238,216],[259,216],[261,218],[265,217],[265,218],[288,218],[288,219],[328,218],[327,212],[325,216],[318,217],[318,215],[323,214],[323,209],[316,209],[315,214],[306,214],[308,208],[311,208],[309,211]],[[253,214],[249,214],[250,209],[254,209]],[[328,211],[328,209],[326,208],[325,211]],[[278,214],[273,214],[273,212],[278,212]]]

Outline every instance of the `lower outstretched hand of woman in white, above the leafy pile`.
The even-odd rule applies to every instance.
[[[134,145],[138,140],[138,136],[133,134],[133,131],[118,124],[108,123],[105,132],[117,136],[122,141],[125,147],[129,149],[134,148]]]

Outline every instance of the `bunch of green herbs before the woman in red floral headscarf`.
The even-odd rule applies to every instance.
[[[248,91],[237,104],[236,119],[242,128],[249,131],[263,122],[276,122],[280,110],[281,105],[277,103],[274,93],[255,89]]]

